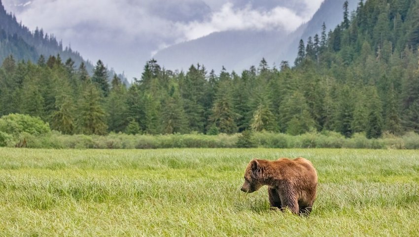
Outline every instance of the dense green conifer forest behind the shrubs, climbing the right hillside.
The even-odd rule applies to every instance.
[[[333,31],[323,24],[300,41],[293,67],[262,59],[240,74],[217,74],[150,60],[129,88],[102,61],[90,76],[60,55],[36,64],[9,56],[0,69],[0,115],[38,116],[63,134],[418,133],[418,5],[361,0],[349,13],[346,2]]]

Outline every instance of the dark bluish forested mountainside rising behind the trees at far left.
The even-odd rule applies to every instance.
[[[24,7],[25,4],[27,5],[27,3],[19,3],[16,7]],[[18,23],[14,15],[6,12],[0,0],[0,63],[9,55],[13,55],[18,61],[37,62],[40,55],[48,58],[58,54],[64,62],[71,58],[76,67],[84,62],[86,69],[90,73],[93,72],[94,66],[91,62],[84,60],[70,47],[64,48],[62,41],[58,41],[53,34],[46,34],[38,28],[31,32],[25,25]],[[109,70],[109,75],[114,73],[113,69]],[[123,74],[118,76],[125,84],[129,84]]]

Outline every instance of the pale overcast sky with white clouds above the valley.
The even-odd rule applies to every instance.
[[[2,0],[31,30],[43,28],[84,58],[102,59],[129,78],[138,77],[159,49],[213,32],[291,32],[313,16],[321,1]]]

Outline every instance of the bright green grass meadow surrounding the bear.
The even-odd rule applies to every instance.
[[[310,217],[240,191],[251,158],[300,156]],[[0,236],[418,235],[418,151],[0,149]]]

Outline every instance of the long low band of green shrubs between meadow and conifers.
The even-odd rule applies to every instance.
[[[62,135],[52,131],[44,135],[21,133],[9,135],[0,132],[0,146],[14,146],[26,138],[30,148],[72,149],[159,149],[159,148],[368,148],[368,149],[419,149],[419,135],[408,133],[403,137],[384,134],[382,138],[368,139],[364,134],[345,138],[335,132],[310,132],[303,135],[287,135],[269,132],[243,134],[172,134],[127,135],[111,133],[101,135]]]

